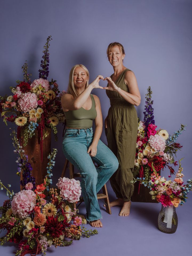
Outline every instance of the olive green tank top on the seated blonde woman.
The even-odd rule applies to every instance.
[[[97,117],[97,111],[95,109],[95,100],[92,94],[92,106],[91,109],[86,110],[83,107],[77,110],[65,111],[66,126],[69,128],[86,129],[93,126],[93,120]]]

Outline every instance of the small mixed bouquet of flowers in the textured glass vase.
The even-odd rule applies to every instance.
[[[182,158],[183,159],[183,158]],[[181,160],[182,160],[181,159]],[[150,180],[146,181],[145,178],[133,179],[131,183],[140,181],[145,187],[150,189],[149,194],[152,199],[157,199],[163,207],[183,205],[186,202],[187,194],[192,191],[192,178],[188,179],[187,184],[183,184],[183,168],[181,167],[181,160],[179,161],[179,170],[175,175],[175,179],[171,181],[161,177],[153,167],[153,173]],[[169,178],[171,175],[169,175]]]

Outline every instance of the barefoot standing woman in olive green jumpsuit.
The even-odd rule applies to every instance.
[[[113,66],[114,73],[106,77],[108,81],[106,94],[111,107],[105,119],[108,147],[119,161],[118,170],[110,178],[111,186],[117,199],[110,206],[123,206],[119,215],[130,213],[131,195],[135,161],[138,118],[135,106],[139,106],[141,96],[134,73],[123,65],[125,51],[120,43],[110,43],[107,56]]]

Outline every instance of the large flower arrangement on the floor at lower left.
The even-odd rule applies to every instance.
[[[23,190],[14,194],[0,181],[1,190],[6,189],[9,200],[0,207],[0,229],[7,233],[0,238],[0,244],[5,242],[18,243],[15,255],[24,256],[28,253],[46,255],[47,247],[67,246],[72,239],[80,239],[82,235],[90,237],[97,230],[86,230],[83,224],[86,219],[78,214],[74,202],[81,195],[80,182],[75,179],[59,178],[57,188],[49,188],[55,165],[56,149],[48,156],[47,175],[40,185],[35,184],[31,177],[31,166],[28,163],[22,146],[19,145],[17,133],[12,131],[14,152],[18,154],[17,174],[22,173]],[[47,191],[47,192],[46,192]],[[48,193],[48,196],[46,195]],[[70,239],[68,239],[70,238]],[[72,239],[71,239],[72,238]]]

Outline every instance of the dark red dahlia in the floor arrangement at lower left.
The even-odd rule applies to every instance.
[[[59,237],[63,234],[63,224],[58,222],[58,217],[54,218],[53,215],[47,218],[45,223],[45,231],[51,235],[51,237]]]

